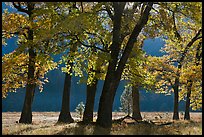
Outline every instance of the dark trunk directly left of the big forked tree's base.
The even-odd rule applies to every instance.
[[[94,101],[97,90],[98,80],[95,78],[94,83],[91,85],[87,85],[86,92],[86,105],[83,115],[84,123],[93,122],[93,110],[94,110]]]

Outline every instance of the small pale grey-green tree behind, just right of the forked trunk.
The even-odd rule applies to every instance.
[[[132,113],[132,87],[126,86],[121,97],[120,97],[121,107],[120,111],[130,114]]]

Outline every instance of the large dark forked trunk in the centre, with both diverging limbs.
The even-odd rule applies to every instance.
[[[121,16],[125,4],[114,3],[114,16],[113,16],[113,39],[111,45],[111,60],[109,61],[108,70],[102,89],[102,94],[99,101],[98,118],[96,124],[102,127],[112,126],[112,106],[114,97],[116,94],[117,87],[120,82],[120,78],[127,62],[127,59],[132,51],[133,45],[141,32],[141,29],[147,23],[149,12],[153,3],[148,3],[148,6],[144,10],[138,24],[136,24],[128,42],[123,55],[118,63],[118,55],[121,47]],[[118,63],[118,66],[117,66]]]

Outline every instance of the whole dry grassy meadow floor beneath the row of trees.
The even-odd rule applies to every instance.
[[[75,122],[56,124],[59,112],[33,112],[32,124],[20,124],[20,112],[2,112],[3,135],[202,135],[202,113],[191,112],[191,120],[172,120],[171,112],[141,112],[143,122],[124,119],[113,122],[110,129],[82,125],[76,112],[71,112]],[[125,113],[113,112],[113,120],[125,117]],[[94,113],[94,121],[96,113]]]

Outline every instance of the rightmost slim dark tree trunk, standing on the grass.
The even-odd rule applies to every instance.
[[[185,107],[185,115],[184,115],[185,120],[190,120],[189,109],[190,109],[190,96],[191,96],[192,84],[193,84],[192,81],[189,80],[187,85],[187,97],[186,97],[186,107]]]

